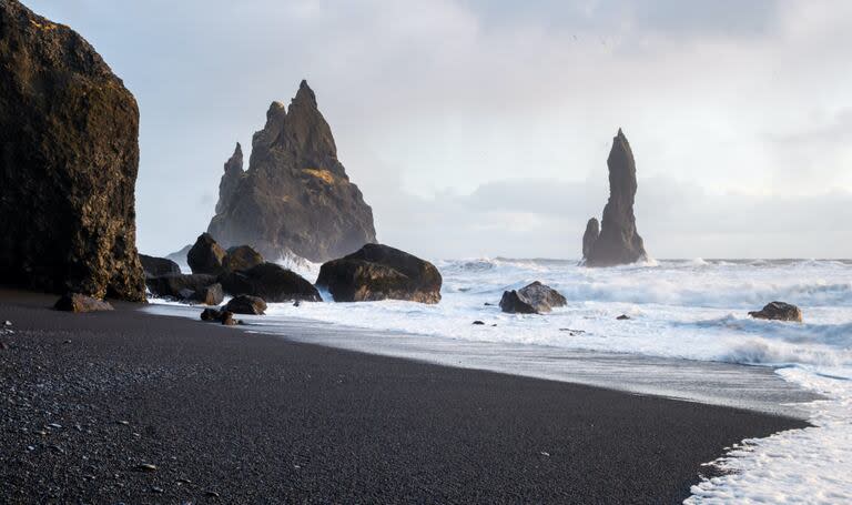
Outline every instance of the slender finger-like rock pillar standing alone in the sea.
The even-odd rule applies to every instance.
[[[607,158],[609,168],[609,201],[598,233],[598,220],[592,218],[582,238],[582,255],[587,266],[613,266],[636,263],[648,257],[642,238],[636,231],[633,201],[636,199],[636,161],[627,137],[618,130]]]

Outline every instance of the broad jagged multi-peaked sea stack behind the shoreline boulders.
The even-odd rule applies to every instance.
[[[207,228],[224,246],[322,262],[375,242],[373,211],[337,160],[332,130],[305,81],[288,110],[270,107],[266,125],[252,139],[248,170],[237,170],[235,158]]]

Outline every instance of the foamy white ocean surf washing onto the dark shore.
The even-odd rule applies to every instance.
[[[814,427],[731,447],[713,464],[732,472],[694,486],[689,502],[852,499],[852,261],[694,259],[610,269],[501,257],[434,263],[444,276],[437,305],[272,304],[266,316],[247,319],[248,329],[803,417]],[[318,267],[294,270],[314,280]],[[501,313],[503,292],[532,281],[559,291],[568,305],[546,315]],[[771,301],[798,305],[804,323],[748,315]],[[618,320],[622,314],[630,319]]]

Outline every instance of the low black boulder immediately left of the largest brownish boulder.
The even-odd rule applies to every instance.
[[[275,263],[263,263],[244,272],[226,272],[219,276],[219,282],[233,296],[260,296],[268,303],[323,301],[313,284]]]

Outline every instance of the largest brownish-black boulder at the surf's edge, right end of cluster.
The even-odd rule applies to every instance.
[[[440,272],[428,261],[382,244],[367,244],[347,256],[324,263],[316,280],[335,302],[438,303],[442,282]]]

